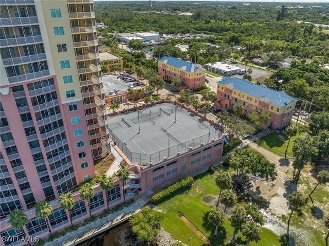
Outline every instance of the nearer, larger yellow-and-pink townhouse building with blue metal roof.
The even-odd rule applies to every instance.
[[[237,78],[224,77],[217,83],[216,106],[232,109],[234,105],[241,104],[246,116],[250,112],[267,110],[270,112],[270,122],[268,125],[263,125],[263,128],[270,126],[273,129],[282,129],[291,122],[298,100],[290,97],[283,90],[273,90],[265,85]]]

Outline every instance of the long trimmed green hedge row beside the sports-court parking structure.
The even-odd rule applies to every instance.
[[[173,196],[177,194],[178,192],[185,190],[186,188],[192,187],[194,180],[192,177],[186,177],[184,179],[181,179],[177,181],[176,183],[167,186],[159,193],[155,194],[150,203],[152,204],[158,204],[159,202],[165,200],[166,198]]]

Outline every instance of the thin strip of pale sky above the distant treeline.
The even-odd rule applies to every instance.
[[[98,2],[98,1],[111,1],[111,2],[115,2],[115,0],[94,0],[94,2]],[[136,0],[121,0],[120,2],[131,2],[134,1],[136,2]],[[149,1],[149,0],[137,0],[137,1]],[[326,3],[328,4],[328,0],[227,0],[227,1],[217,1],[217,0],[163,0],[163,2],[165,1],[174,1],[174,2],[182,2],[182,1],[189,1],[189,2],[240,2],[240,3],[252,3],[252,2],[257,2],[257,3],[264,3],[264,2],[269,2],[269,3],[313,3],[316,6],[316,3]],[[152,2],[159,2],[159,0],[153,0]]]

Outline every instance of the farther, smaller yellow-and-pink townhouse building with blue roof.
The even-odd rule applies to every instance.
[[[158,74],[163,80],[179,77],[188,89],[205,85],[206,69],[199,64],[182,61],[180,58],[163,56],[158,60]]]

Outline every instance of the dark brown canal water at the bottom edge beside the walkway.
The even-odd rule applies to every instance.
[[[89,239],[79,246],[131,246],[130,240],[125,239],[125,231],[129,229],[129,222],[125,222],[112,228],[92,239]]]

